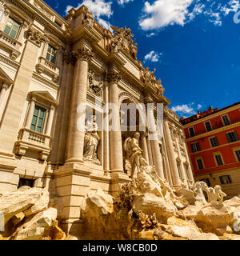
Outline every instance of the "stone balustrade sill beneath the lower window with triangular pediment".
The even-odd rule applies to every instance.
[[[50,136],[22,128],[15,142],[15,154],[25,155],[26,150],[38,151],[39,159],[45,161],[50,154]]]

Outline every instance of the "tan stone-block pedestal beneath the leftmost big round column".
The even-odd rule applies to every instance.
[[[62,219],[62,228],[67,233],[84,239],[86,230],[81,219],[81,209],[87,194],[101,188],[106,194],[115,195],[121,184],[130,182],[130,178],[124,173],[105,173],[102,166],[90,162],[77,162],[66,163],[55,170],[51,182],[54,182],[54,194],[57,195],[54,201],[58,207],[58,218]]]

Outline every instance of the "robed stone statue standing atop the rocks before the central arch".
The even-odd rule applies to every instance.
[[[126,166],[130,163],[131,174],[130,177],[134,178],[140,169],[148,166],[146,160],[142,157],[142,149],[139,146],[140,134],[135,133],[134,138],[126,138],[124,142],[124,150],[126,151]]]

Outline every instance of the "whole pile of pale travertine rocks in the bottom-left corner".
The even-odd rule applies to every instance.
[[[46,189],[22,186],[0,196],[5,231],[0,240],[75,240],[58,226],[57,209],[50,207]]]

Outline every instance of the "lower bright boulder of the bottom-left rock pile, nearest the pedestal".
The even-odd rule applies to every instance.
[[[49,208],[20,226],[13,234],[14,240],[41,240],[47,228],[52,226],[57,218],[57,209]]]

